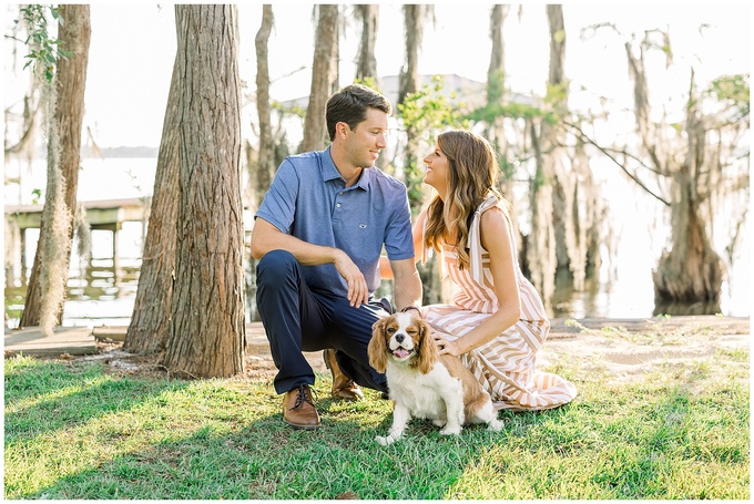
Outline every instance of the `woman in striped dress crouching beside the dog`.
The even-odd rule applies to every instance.
[[[496,189],[498,163],[489,143],[466,131],[437,138],[425,157],[425,183],[437,189],[414,227],[426,260],[440,253],[456,285],[452,305],[424,307],[440,353],[459,356],[497,409],[544,410],[570,402],[575,387],[534,370],[550,321],[518,265],[509,204]]]

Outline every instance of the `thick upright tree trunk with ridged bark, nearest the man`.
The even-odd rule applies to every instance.
[[[165,364],[180,374],[244,369],[241,82],[235,6],[175,7],[179,213]]]

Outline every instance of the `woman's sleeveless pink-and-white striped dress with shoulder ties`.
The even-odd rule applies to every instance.
[[[481,247],[479,236],[481,213],[497,203],[492,196],[477,209],[469,234],[469,268],[459,269],[454,247],[442,247],[444,269],[456,285],[456,294],[452,305],[430,305],[424,307],[422,313],[435,331],[447,340],[462,337],[498,309],[489,254]],[[513,257],[518,257],[511,223],[505,210],[503,215],[513,244]],[[489,392],[498,410],[546,410],[566,404],[575,397],[575,387],[557,374],[534,369],[537,352],[547,338],[550,321],[539,294],[523,277],[518,261],[516,272],[521,297],[519,321],[491,341],[462,354],[461,360]]]

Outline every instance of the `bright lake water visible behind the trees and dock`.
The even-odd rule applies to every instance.
[[[84,158],[79,175],[79,200],[143,197],[152,193],[155,158]],[[16,171],[16,172],[14,172]],[[30,204],[33,189],[45,187],[43,161],[22,168],[22,183],[6,185],[6,204]],[[18,166],[7,164],[6,175],[18,174]],[[588,282],[582,292],[574,292],[559,282],[552,300],[553,317],[610,317],[648,318],[654,310],[652,268],[666,244],[660,208],[635,187],[620,177],[603,181],[605,193],[620,194],[611,199],[611,217],[607,225],[612,229],[614,254],[608,258],[603,247],[603,265],[599,278]],[[251,215],[246,213],[246,220]],[[246,227],[249,228],[249,222]],[[524,225],[521,225],[522,230]],[[666,229],[666,226],[664,226]],[[27,265],[31,267],[37,229],[27,232]],[[726,245],[725,236],[716,236],[717,250]],[[92,232],[92,263],[84,265],[77,257],[71,259],[68,300],[63,310],[67,326],[128,325],[137,287],[137,271],[142,247],[142,224],[124,223],[119,232],[118,269],[112,258],[112,234]],[[744,237],[736,260],[728,266],[728,278],[723,285],[721,311],[726,316],[750,315],[750,245]],[[20,267],[13,272],[14,285],[6,288],[6,312],[10,318],[7,327],[18,325],[23,308],[26,287],[20,281]],[[699,308],[699,307],[696,307]],[[693,308],[692,308],[693,309]],[[695,313],[695,311],[690,311]],[[681,315],[681,313],[676,313]]]

